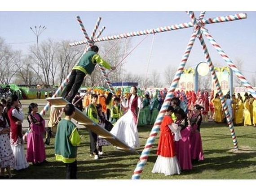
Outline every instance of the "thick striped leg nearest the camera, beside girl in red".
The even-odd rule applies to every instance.
[[[174,79],[172,80],[172,84],[170,86],[170,90],[168,91],[168,94],[166,95],[164,101],[163,101],[163,105],[161,107],[161,110],[159,111],[159,114],[156,118],[156,121],[154,123],[154,126],[150,132],[150,136],[146,141],[145,147],[141,153],[141,157],[139,158],[139,161],[137,163],[137,166],[135,168],[135,170],[133,171],[133,175],[132,175],[132,179],[139,179],[142,173],[142,170],[144,169],[144,166],[146,165],[146,161],[147,158],[150,154],[150,150],[153,146],[155,137],[157,136],[159,129],[160,129],[160,125],[162,123],[163,117],[166,113],[166,110],[171,102],[171,99],[173,98],[173,93],[177,87],[178,81],[181,78],[181,74],[183,72],[183,69],[185,67],[185,64],[188,60],[188,57],[190,55],[190,51],[194,45],[194,41],[196,38],[196,35],[198,34],[198,28],[196,28],[193,32],[193,34],[191,35],[190,41],[188,43],[188,46],[186,48],[186,51],[181,59],[181,64],[179,66],[179,68],[177,69],[177,72],[175,74]]]

